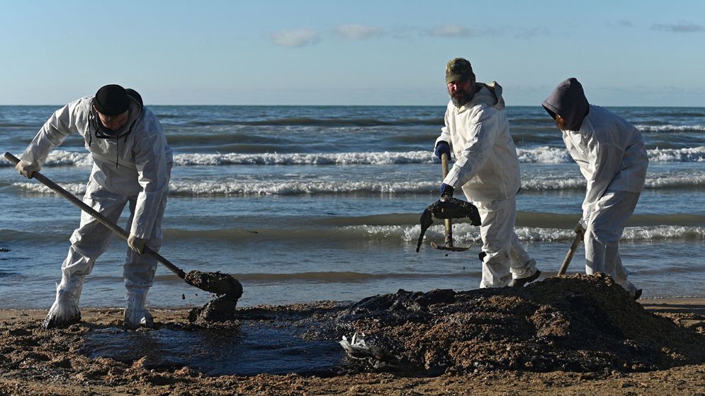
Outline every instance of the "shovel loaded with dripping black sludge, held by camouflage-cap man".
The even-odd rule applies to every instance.
[[[441,163],[443,165],[443,177],[446,178],[448,175],[448,155],[446,153],[441,155]],[[442,197],[438,201],[431,204],[424,210],[421,215],[421,235],[419,235],[419,241],[416,246],[416,252],[419,252],[421,248],[422,240],[424,239],[424,233],[433,223],[433,217],[436,219],[444,219],[446,223],[446,240],[444,245],[438,245],[435,242],[431,243],[434,249],[439,250],[450,250],[451,252],[463,252],[468,248],[456,248],[453,246],[453,223],[451,219],[470,219],[470,223],[473,226],[480,226],[482,221],[480,220],[480,212],[475,205],[470,204],[470,202],[461,201],[460,199],[455,199],[451,197]]]

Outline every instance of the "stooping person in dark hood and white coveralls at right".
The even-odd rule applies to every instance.
[[[576,231],[585,238],[587,274],[608,274],[634,298],[619,257],[619,238],[644,190],[648,156],[639,131],[620,117],[590,105],[575,78],[558,84],[543,108],[563,132],[568,153],[587,179],[582,218]]]

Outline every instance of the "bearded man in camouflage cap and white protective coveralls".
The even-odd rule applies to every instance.
[[[541,272],[514,232],[521,181],[502,87],[495,81],[476,83],[470,62],[463,58],[446,65],[446,84],[451,100],[434,152],[450,157],[452,149],[456,161],[441,184],[441,197],[452,197],[453,190],[462,188],[480,212],[480,288],[524,286]]]

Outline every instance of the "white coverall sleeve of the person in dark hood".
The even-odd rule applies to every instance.
[[[624,150],[605,143],[590,141],[589,161],[592,177],[587,180],[585,200],[582,202],[582,222],[590,219],[592,208],[602,198],[614,177],[619,173]]]

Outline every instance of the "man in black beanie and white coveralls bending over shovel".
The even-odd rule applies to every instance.
[[[94,165],[84,202],[117,222],[126,204],[130,206],[127,230],[125,279],[125,327],[151,327],[152,315],[145,308],[157,261],[142,255],[145,246],[162,246],[162,217],[169,194],[171,148],[162,125],[142,105],[140,95],[118,85],[103,86],[95,96],[86,96],[57,110],[26,148],[16,169],[32,177],[41,169],[49,151],[69,134],[84,137]],[[96,259],[108,249],[112,231],[86,213],[71,236],[71,248],[62,264],[56,300],[43,327],[64,327],[81,319],[79,298],[86,275]]]

